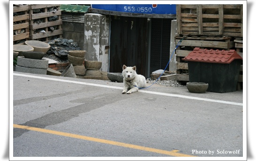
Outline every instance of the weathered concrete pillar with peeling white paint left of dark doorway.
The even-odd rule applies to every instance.
[[[84,15],[84,44],[86,60],[102,62],[101,70],[108,71],[109,18],[102,14]]]

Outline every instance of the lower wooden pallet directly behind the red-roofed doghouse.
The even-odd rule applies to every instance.
[[[184,38],[184,39],[183,39]],[[183,40],[182,40],[183,39]],[[176,36],[176,45],[181,41],[180,46],[175,50],[177,70],[176,80],[180,84],[186,85],[189,81],[188,63],[183,61],[182,58],[187,56],[195,47],[201,49],[225,49],[230,50],[234,47],[233,38],[229,36]]]

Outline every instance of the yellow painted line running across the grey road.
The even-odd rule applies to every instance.
[[[83,136],[83,135],[77,135],[77,134],[72,134],[72,133],[63,133],[63,132],[58,132],[58,131],[53,131],[53,130],[47,130],[47,129],[37,128],[37,127],[23,126],[23,125],[17,125],[17,124],[13,124],[13,127],[31,130],[31,131],[37,131],[37,132],[41,132],[41,133],[50,133],[50,134],[66,136],[66,137],[70,137],[70,138],[94,141],[94,142],[110,144],[110,145],[115,145],[115,146],[120,146],[120,147],[128,147],[128,148],[132,148],[132,149],[143,150],[143,151],[158,153],[158,154],[166,154],[166,155],[178,156],[178,157],[195,157],[194,155],[177,153],[179,150],[167,151],[167,150],[161,150],[161,149],[156,149],[156,148],[151,148],[151,147],[142,147],[142,146],[127,144],[127,143],[122,143],[122,142],[117,142],[117,141],[98,139],[98,138],[93,138],[93,137],[88,137],[88,136]]]

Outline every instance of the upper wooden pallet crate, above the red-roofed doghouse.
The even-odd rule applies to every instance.
[[[178,34],[243,36],[242,5],[176,5]]]

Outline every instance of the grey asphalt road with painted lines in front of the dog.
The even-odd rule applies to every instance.
[[[243,91],[121,92],[122,83],[14,72],[10,160],[246,157]]]

